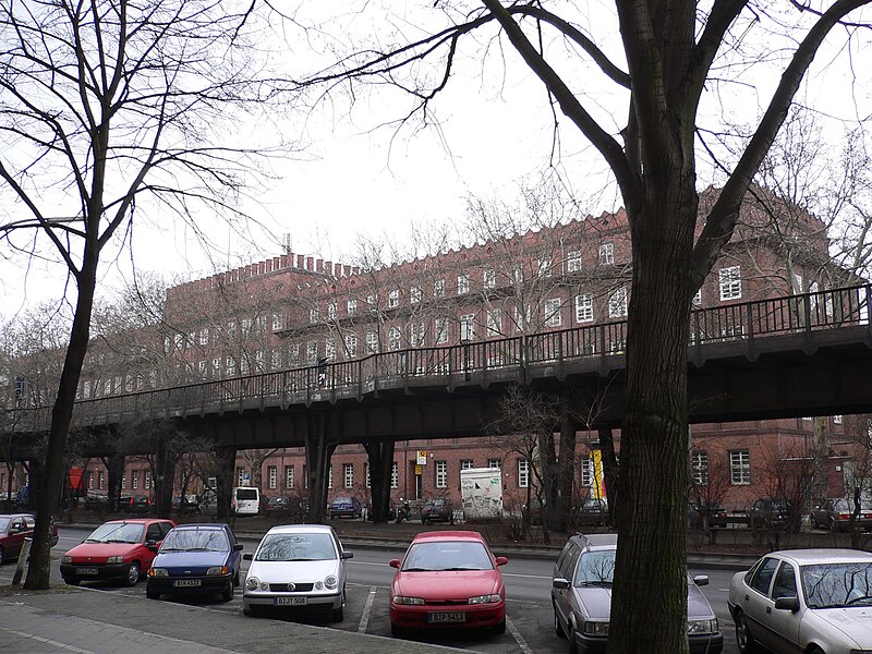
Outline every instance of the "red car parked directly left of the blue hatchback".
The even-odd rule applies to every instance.
[[[149,547],[159,547],[173,526],[172,520],[154,518],[105,522],[63,555],[61,577],[70,585],[107,580],[135,585],[157,554]]]

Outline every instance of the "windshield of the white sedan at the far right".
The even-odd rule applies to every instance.
[[[800,572],[811,608],[872,606],[872,562],[802,566]]]

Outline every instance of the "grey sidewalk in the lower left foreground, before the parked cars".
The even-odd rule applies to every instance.
[[[0,592],[0,642],[4,654],[465,652],[89,589]]]

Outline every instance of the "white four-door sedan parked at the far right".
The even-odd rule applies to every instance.
[[[872,553],[792,549],[737,572],[727,604],[742,654],[872,652]]]

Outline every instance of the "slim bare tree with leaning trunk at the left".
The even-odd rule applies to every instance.
[[[0,179],[17,213],[0,238],[17,252],[53,253],[74,294],[29,589],[49,583],[48,524],[101,256],[129,240],[137,204],[152,201],[196,229],[195,205],[232,211],[254,168],[257,146],[210,143],[235,108],[262,99],[263,68],[246,49],[253,21],[251,3],[209,0],[22,0],[0,10]]]

